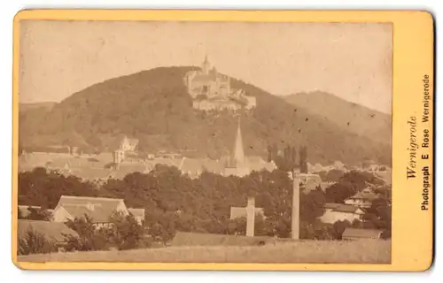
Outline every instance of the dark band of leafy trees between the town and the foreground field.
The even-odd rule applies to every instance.
[[[370,173],[348,172],[325,193],[318,189],[300,195],[300,236],[338,239],[338,230],[351,225],[385,229],[389,234],[391,210],[387,193],[368,210],[367,223],[330,226],[317,219],[323,215],[326,202],[337,201],[338,197],[343,201],[361,191],[367,182],[379,181]],[[135,172],[123,180],[108,180],[99,189],[42,168],[19,173],[19,204],[52,209],[60,195],[123,198],[128,207],[144,208],[145,231],[164,242],[170,241],[176,231],[244,234],[245,219],[230,220],[229,213],[232,206],[245,206],[249,196],[255,197],[256,206],[264,209],[265,218],[256,219],[256,235],[289,237],[291,194],[291,180],[287,172],[279,170],[253,172],[243,178],[204,172],[198,179],[190,179],[175,167],[158,165],[147,174]]]

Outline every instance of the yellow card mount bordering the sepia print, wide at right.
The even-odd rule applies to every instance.
[[[188,20],[248,22],[389,22],[392,23],[392,264],[135,264],[17,262],[19,21],[52,20]],[[420,210],[423,178],[406,179],[409,133],[407,120],[423,114],[424,74],[430,77],[431,145],[418,153],[417,168],[433,175],[433,19],[426,11],[178,11],[178,10],[27,10],[14,18],[12,261],[27,270],[229,270],[229,271],[424,271],[433,258],[433,194],[429,210]],[[417,124],[416,133],[424,126]],[[420,136],[420,135],[419,135]],[[431,159],[419,157],[429,154]],[[431,180],[433,187],[433,176]]]

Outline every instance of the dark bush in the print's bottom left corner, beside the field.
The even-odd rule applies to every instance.
[[[32,226],[27,228],[24,238],[19,238],[19,255],[47,254],[57,251],[56,246],[47,241],[42,233],[36,232]]]

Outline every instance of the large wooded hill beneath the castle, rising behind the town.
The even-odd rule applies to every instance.
[[[220,157],[229,153],[237,130],[237,118],[227,112],[194,111],[183,85],[191,67],[160,67],[105,80],[85,88],[51,111],[20,113],[23,147],[50,144],[115,149],[123,134],[140,140],[139,149],[196,150]],[[388,145],[346,131],[312,111],[294,107],[284,99],[240,80],[256,96],[257,108],[242,119],[245,152],[266,156],[268,143],[307,145],[309,162],[361,162],[364,158],[390,163]]]

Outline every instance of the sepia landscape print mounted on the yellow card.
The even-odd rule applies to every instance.
[[[19,22],[19,262],[390,264],[392,25]]]

